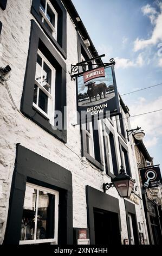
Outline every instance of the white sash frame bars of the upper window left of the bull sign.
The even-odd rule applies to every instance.
[[[38,87],[37,88],[37,103],[33,102],[33,106],[41,112],[45,117],[47,117],[51,124],[53,124],[54,120],[54,111],[55,111],[55,81],[56,81],[56,70],[55,68],[50,64],[48,59],[44,57],[43,53],[38,50],[38,55],[42,58],[42,67],[41,67],[41,80],[43,77],[43,64],[44,62],[49,66],[51,69],[51,86],[46,82],[47,86],[50,87],[50,93],[35,79],[35,84]],[[40,90],[43,91],[48,96],[48,106],[47,106],[47,113],[44,112],[39,106],[38,106],[38,100],[39,100],[39,94]]]

